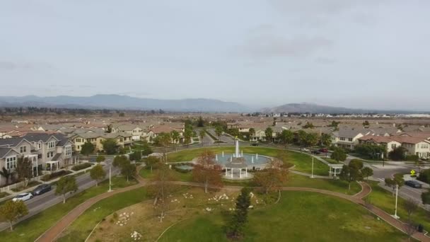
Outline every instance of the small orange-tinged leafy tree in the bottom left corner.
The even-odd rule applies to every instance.
[[[0,207],[0,221],[8,222],[11,231],[13,231],[13,223],[27,214],[28,209],[23,201],[8,200]]]

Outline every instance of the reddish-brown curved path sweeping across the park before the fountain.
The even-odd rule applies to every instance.
[[[101,195],[98,195],[96,197],[92,197],[90,200],[87,200],[86,202],[83,202],[79,204],[79,206],[75,207],[69,214],[66,214],[60,221],[57,222],[57,224],[54,224],[50,229],[45,231],[42,236],[36,239],[36,241],[43,241],[43,242],[50,242],[54,241],[57,236],[62,234],[62,231],[66,229],[69,224],[71,224],[75,219],[77,219],[83,212],[86,211],[89,207],[91,207],[96,202],[99,202],[100,200],[103,200],[105,198],[111,197],[112,195],[121,193],[121,192],[127,192],[129,190],[133,190],[135,188],[141,188],[146,185],[150,185],[151,183],[146,183],[146,180],[143,178],[137,178],[139,181],[139,184],[129,186],[127,188],[122,188],[115,190],[113,192],[106,192]],[[190,183],[190,182],[172,182],[177,185],[188,185],[188,186],[194,186],[194,187],[203,187],[201,183]],[[351,202],[354,202],[355,204],[360,204],[364,206],[364,200],[362,200],[366,195],[368,195],[371,192],[371,187],[367,183],[360,183],[361,185],[361,191],[359,193],[356,193],[355,195],[345,195],[339,192],[332,192],[329,190],[320,190],[315,188],[296,188],[296,187],[284,187],[281,188],[281,190],[284,191],[305,191],[305,192],[318,192],[325,195],[331,195],[335,197],[340,197],[345,200],[349,200]],[[227,190],[240,190],[243,187],[240,186],[224,186],[222,189]],[[402,223],[402,221],[399,221],[397,219],[394,219],[391,217],[390,214],[387,214],[382,209],[379,209],[378,207],[364,207],[368,209],[368,211],[372,212],[373,214],[376,214],[376,216],[380,217],[381,219],[388,222],[388,224],[391,224],[392,226],[395,226],[395,228],[399,229],[400,231],[405,232],[405,224]],[[424,236],[422,233],[416,233],[413,235],[414,238],[418,239],[419,241],[430,241],[430,238],[427,236]]]

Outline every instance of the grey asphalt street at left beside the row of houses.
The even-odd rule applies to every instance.
[[[108,176],[109,167],[112,164],[112,158],[107,158],[105,163],[106,165],[103,168],[105,169],[105,171],[107,171],[107,178],[109,178]],[[111,175],[114,175],[118,172],[119,170],[112,166]],[[78,185],[78,190],[74,194],[69,194],[66,197],[73,196],[76,193],[82,192],[83,190],[91,188],[93,185],[95,185],[95,181],[90,178],[89,172],[76,177],[76,183]],[[63,202],[63,196],[62,195],[57,196],[54,193],[55,193],[55,186],[52,186],[52,190],[50,190],[49,192],[45,192],[42,195],[35,196],[32,199],[25,201],[25,204],[28,207],[28,214],[25,215],[25,217],[22,217],[21,219],[19,219],[18,221],[23,221],[25,219],[28,219],[29,217],[32,217],[35,214],[38,214],[39,212],[42,212],[43,210],[48,209],[49,207],[52,207],[54,204]],[[0,223],[0,231],[3,231],[4,229],[8,229],[8,227],[9,227],[8,223]]]

